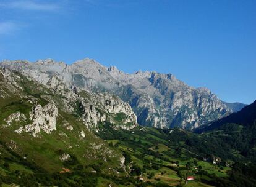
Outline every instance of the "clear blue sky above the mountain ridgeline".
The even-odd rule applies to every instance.
[[[0,60],[85,57],[256,99],[256,1],[0,0]]]

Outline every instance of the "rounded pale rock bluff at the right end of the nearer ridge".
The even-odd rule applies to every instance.
[[[86,99],[79,98],[79,106],[83,122],[88,128],[95,129],[105,121],[127,130],[137,125],[137,117],[130,105],[108,93],[87,92]],[[118,119],[120,115],[121,119]]]

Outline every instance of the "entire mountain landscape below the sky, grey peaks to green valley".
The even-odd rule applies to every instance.
[[[4,61],[0,186],[255,186],[255,103],[89,59]]]

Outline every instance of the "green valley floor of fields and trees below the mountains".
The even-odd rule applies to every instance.
[[[179,130],[176,129],[173,135],[177,133]],[[211,180],[211,176],[227,177],[227,172],[230,170],[229,167],[220,167],[220,165],[200,161],[199,157],[188,156],[191,153],[185,149],[186,146],[177,151],[177,144],[185,145],[184,141],[170,142],[168,138],[171,135],[163,133],[161,130],[137,127],[132,131],[119,130],[116,132],[105,125],[99,135],[117,149],[131,156],[131,162],[126,163],[127,168],[132,168],[134,165],[139,166],[142,169],[144,181],[152,183],[160,181],[170,186],[176,186],[184,185],[186,176],[193,175],[196,181],[189,181],[189,186],[207,186],[200,182],[201,178]],[[198,169],[199,167],[202,169]],[[201,171],[205,173],[202,174]],[[151,173],[153,173],[153,177],[150,177]]]

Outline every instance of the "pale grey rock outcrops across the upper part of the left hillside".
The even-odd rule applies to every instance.
[[[21,72],[22,74],[14,73],[9,68],[0,67],[0,99],[23,99],[32,106],[28,113],[29,117],[18,111],[4,119],[3,125],[6,127],[10,127],[14,122],[22,121],[25,124],[14,132],[28,132],[33,137],[40,137],[38,135],[42,131],[49,134],[57,130],[59,109],[77,116],[89,130],[98,130],[98,125],[105,122],[111,123],[116,129],[129,130],[137,126],[134,111],[128,103],[117,96],[107,92],[94,93],[75,86],[69,87],[54,74],[49,73],[48,76],[43,76],[43,79],[38,79],[34,77],[33,72],[23,72],[23,69]],[[32,87],[25,87],[24,82]],[[40,96],[32,94],[38,90]],[[44,100],[44,105],[38,103],[40,98]],[[62,122],[62,127],[73,130],[67,121]],[[80,136],[85,138],[85,133],[80,132]]]

